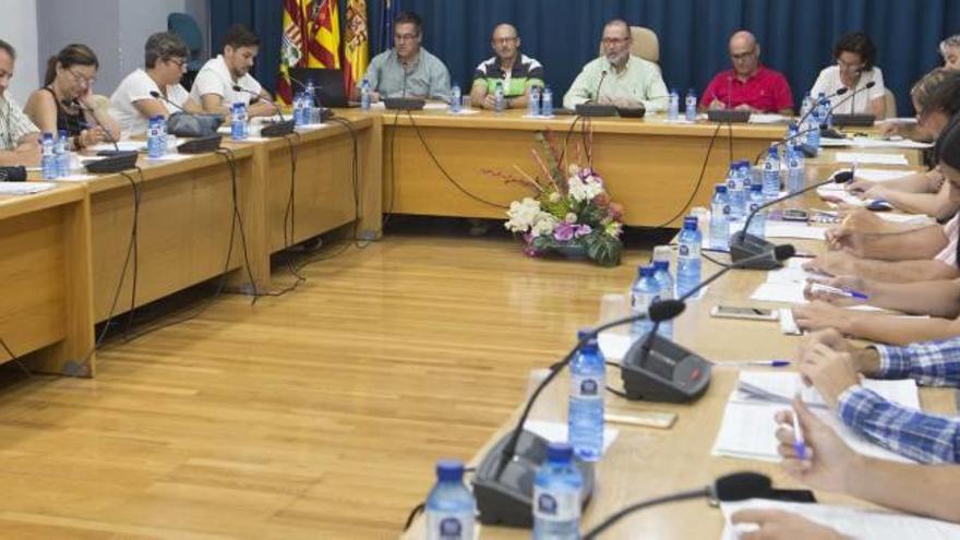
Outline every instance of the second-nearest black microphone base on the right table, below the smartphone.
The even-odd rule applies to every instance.
[[[713,364],[660,335],[653,336],[645,360],[648,338],[646,334],[637,339],[623,357],[620,373],[627,399],[681,404],[707,392]]]

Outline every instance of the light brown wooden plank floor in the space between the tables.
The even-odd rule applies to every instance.
[[[648,256],[400,227],[284,297],[113,341],[96,380],[7,364],[0,537],[394,538],[434,461],[472,455]]]

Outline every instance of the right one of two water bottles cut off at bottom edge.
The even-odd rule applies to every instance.
[[[547,460],[533,478],[533,539],[580,538],[580,491],[584,477],[574,466],[573,448],[564,443],[547,446]]]

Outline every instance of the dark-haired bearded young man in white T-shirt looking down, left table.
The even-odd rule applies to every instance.
[[[252,32],[241,24],[231,26],[224,36],[223,55],[208,60],[201,68],[193,80],[190,98],[211,115],[227,117],[235,103],[243,103],[251,118],[272,116],[276,108],[271,95],[250,74],[259,51],[260,39]],[[247,92],[233,92],[233,86]]]

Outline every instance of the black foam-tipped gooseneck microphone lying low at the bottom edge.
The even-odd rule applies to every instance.
[[[583,538],[584,540],[592,540],[627,515],[651,506],[700,497],[720,502],[746,501],[747,499],[768,494],[771,485],[770,477],[766,475],[760,475],[759,472],[734,472],[720,477],[710,485],[698,490],[682,491],[672,495],[659,496],[632,504],[601,521],[600,525],[587,531]]]

